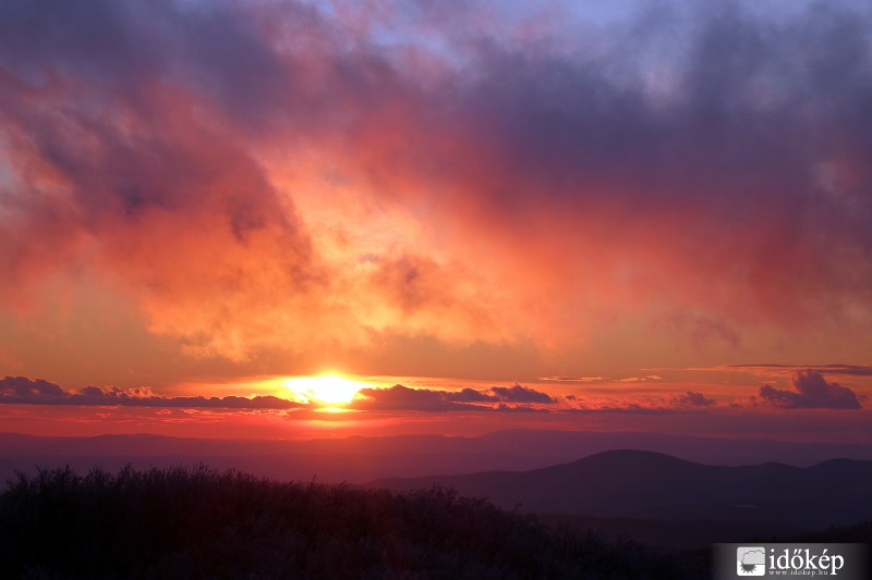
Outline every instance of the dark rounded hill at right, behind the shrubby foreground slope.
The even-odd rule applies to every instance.
[[[555,521],[589,518],[593,528],[591,518],[610,520],[604,528],[622,519],[628,531],[644,528],[645,521],[649,528],[662,522],[654,534],[667,542],[664,530],[670,530],[671,539],[694,527],[730,535],[704,540],[708,543],[796,535],[872,519],[872,461],[848,459],[807,468],[775,462],[730,467],[613,451],[530,471],[379,479],[368,485],[397,491],[444,485],[504,508],[552,515]]]

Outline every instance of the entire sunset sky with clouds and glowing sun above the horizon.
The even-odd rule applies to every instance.
[[[870,30],[5,0],[0,431],[872,443]]]

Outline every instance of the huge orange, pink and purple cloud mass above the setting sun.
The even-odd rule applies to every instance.
[[[85,272],[237,361],[613,329],[637,355],[661,333],[868,351],[865,14],[735,4],[593,50],[555,14],[421,10],[5,3],[0,299]],[[385,234],[386,208],[417,229]]]

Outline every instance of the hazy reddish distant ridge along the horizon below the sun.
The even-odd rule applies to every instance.
[[[39,437],[0,433],[0,483],[36,466],[95,464],[119,469],[203,461],[282,480],[363,483],[387,477],[424,477],[488,470],[530,470],[596,453],[635,448],[702,464],[779,461],[810,466],[834,457],[872,459],[872,446],[794,443],[585,431],[507,430],[476,437],[445,435],[350,436],[310,441],[206,440],[150,434]]]

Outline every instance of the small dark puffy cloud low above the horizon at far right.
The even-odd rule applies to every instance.
[[[847,386],[828,383],[813,370],[799,371],[794,377],[795,391],[772,385],[760,387],[760,398],[766,405],[784,409],[859,409],[857,395]]]

